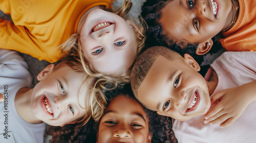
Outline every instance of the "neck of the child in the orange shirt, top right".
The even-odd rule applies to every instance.
[[[234,23],[236,23],[238,19],[238,14],[239,14],[239,3],[238,0],[230,0],[232,8],[229,12],[229,15],[227,17],[227,21],[225,23],[223,32],[229,30],[231,27],[233,27]]]

